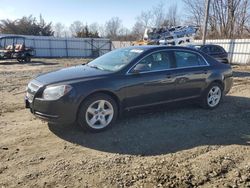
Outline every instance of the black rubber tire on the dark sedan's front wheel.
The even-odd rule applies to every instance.
[[[101,120],[96,120],[97,125],[91,126],[90,123],[88,123],[87,118],[92,119],[92,118],[94,118],[94,116],[98,116],[99,114],[95,114],[95,115],[93,115],[93,117],[91,117],[92,114],[88,113],[87,110],[94,103],[96,103],[96,105],[99,106],[99,104],[97,103],[98,101],[107,101],[107,104],[112,105],[113,116],[112,116],[112,119],[110,120],[110,122],[105,127],[100,126],[97,128],[97,127],[93,127],[93,126],[98,126],[98,123],[101,124],[101,122],[100,122]],[[103,107],[103,109],[105,109],[105,107]],[[95,112],[95,113],[101,113],[101,112]],[[103,117],[104,116],[105,115],[103,115]],[[115,100],[112,97],[110,97],[109,95],[106,95],[103,93],[98,93],[98,94],[91,95],[85,101],[83,101],[83,103],[81,104],[79,111],[78,111],[77,123],[85,131],[101,132],[101,131],[104,131],[104,130],[110,128],[114,124],[114,122],[116,121],[117,116],[118,116],[118,107],[117,107],[117,103],[115,102]],[[109,119],[109,117],[106,117],[106,116],[104,118],[105,118],[105,121],[107,121],[107,119]]]

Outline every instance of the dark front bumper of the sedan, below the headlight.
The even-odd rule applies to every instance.
[[[25,107],[36,117],[52,124],[71,124],[76,121],[77,105],[67,97],[56,101],[34,98],[32,102],[25,97]]]

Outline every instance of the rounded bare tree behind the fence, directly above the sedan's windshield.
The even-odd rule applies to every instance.
[[[113,17],[105,24],[106,35],[111,40],[116,40],[119,35],[119,30],[122,27],[122,21],[118,17]]]

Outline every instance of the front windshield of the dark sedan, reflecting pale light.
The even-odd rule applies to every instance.
[[[93,68],[115,72],[121,70],[143,52],[142,49],[123,48],[109,52],[87,65]]]

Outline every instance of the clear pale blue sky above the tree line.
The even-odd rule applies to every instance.
[[[0,20],[17,19],[42,14],[46,22],[61,22],[69,26],[80,20],[91,24],[104,24],[111,17],[119,17],[123,25],[131,29],[141,11],[164,2],[166,10],[177,4],[178,13],[183,12],[182,0],[0,0]]]

